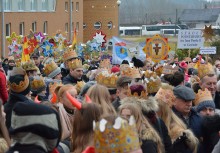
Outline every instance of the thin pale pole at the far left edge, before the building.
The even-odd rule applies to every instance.
[[[1,10],[2,10],[2,48],[1,48],[1,54],[2,57],[5,58],[5,14],[4,14],[4,0],[1,0]]]

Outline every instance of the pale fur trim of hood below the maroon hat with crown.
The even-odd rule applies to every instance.
[[[139,99],[137,97],[126,97],[121,100],[121,104],[123,103],[137,103],[141,110],[148,112],[157,112],[159,109],[158,102],[155,97],[149,97],[148,99]]]

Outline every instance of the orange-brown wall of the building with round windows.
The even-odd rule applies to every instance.
[[[106,34],[106,39],[118,35],[118,5],[117,0],[84,0],[83,22],[86,24],[83,41],[91,40],[97,31]],[[108,22],[113,23],[112,29],[108,29]],[[94,28],[95,22],[101,22],[99,30]]]

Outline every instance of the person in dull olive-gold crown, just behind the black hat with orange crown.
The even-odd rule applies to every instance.
[[[25,62],[22,68],[26,71],[29,78],[37,76],[38,68],[33,61]]]

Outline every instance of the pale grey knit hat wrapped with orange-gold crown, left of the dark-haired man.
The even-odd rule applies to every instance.
[[[54,62],[52,58],[48,58],[44,62],[44,74],[50,78],[54,78],[56,75],[61,73],[60,68],[57,66],[57,64]]]

